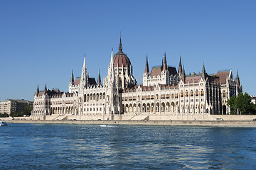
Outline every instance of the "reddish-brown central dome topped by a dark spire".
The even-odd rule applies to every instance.
[[[129,60],[129,58],[127,57],[127,55],[124,54],[124,52],[122,52],[122,42],[121,42],[121,38],[120,38],[120,44],[119,44],[119,52],[117,52],[117,54],[114,55],[114,67],[131,67],[131,62]]]

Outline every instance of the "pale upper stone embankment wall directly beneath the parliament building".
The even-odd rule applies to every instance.
[[[49,115],[46,120],[117,120],[117,121],[215,121],[217,118],[222,118],[224,121],[252,121],[256,115],[171,115],[171,114],[140,114],[140,115]],[[16,117],[15,120],[32,120],[30,117]],[[12,120],[9,118],[0,118],[0,120]],[[35,120],[35,119],[33,119]],[[43,120],[38,118],[36,120]]]

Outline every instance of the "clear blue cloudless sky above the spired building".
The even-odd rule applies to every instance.
[[[123,51],[142,84],[149,67],[186,74],[237,70],[243,91],[256,96],[256,1],[0,1],[0,101],[28,99],[39,85],[68,91],[86,55],[89,76],[107,76],[111,48]]]

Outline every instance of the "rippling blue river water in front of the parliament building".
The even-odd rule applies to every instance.
[[[256,128],[15,124],[1,169],[255,169]]]

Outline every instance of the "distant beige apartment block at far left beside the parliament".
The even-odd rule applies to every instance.
[[[9,99],[0,101],[0,113],[10,114],[16,111],[23,111],[26,106],[33,106],[33,101]]]

